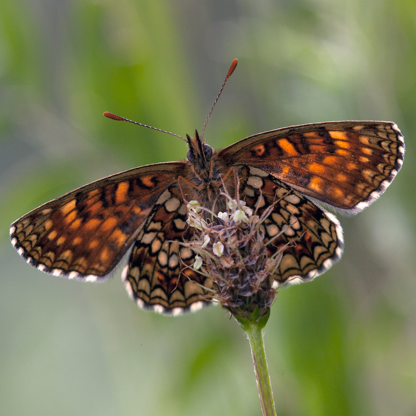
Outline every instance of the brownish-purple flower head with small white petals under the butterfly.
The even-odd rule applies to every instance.
[[[273,273],[281,252],[268,256],[263,220],[245,202],[227,196],[227,212],[219,212],[211,223],[203,218],[197,202],[188,205],[188,223],[198,230],[189,247],[196,252],[193,268],[209,275],[213,282],[212,300],[241,319],[259,320],[270,313],[277,291]]]

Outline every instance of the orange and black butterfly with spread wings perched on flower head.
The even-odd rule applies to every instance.
[[[274,204],[262,229],[266,240],[280,235],[268,250],[287,245],[275,281],[312,279],[343,252],[338,220],[319,205],[357,214],[385,191],[404,159],[403,136],[386,121],[295,125],[218,151],[196,132],[187,144],[183,161],[132,168],[46,202],[12,223],[12,245],[43,272],[85,281],[104,280],[129,256],[123,281],[130,296],[175,315],[210,303],[201,297],[210,279],[181,263],[195,257],[177,243],[195,232],[186,201],[224,211],[223,184],[234,196],[239,183],[240,198],[259,214]]]

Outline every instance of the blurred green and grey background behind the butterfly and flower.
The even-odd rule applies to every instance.
[[[279,291],[266,352],[279,415],[416,415],[416,1],[0,0],[0,414],[260,415],[220,308],[140,311],[120,281],[28,266],[8,227],[105,175],[286,125],[395,121],[404,167],[345,229],[343,259]]]

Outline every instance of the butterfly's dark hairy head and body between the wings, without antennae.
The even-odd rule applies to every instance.
[[[187,135],[187,141],[187,159],[191,164],[188,179],[192,184],[187,198],[198,200],[201,205],[214,212],[224,210],[226,198],[220,193],[223,180],[227,179],[227,191],[234,196],[234,179],[227,175],[227,166],[219,163],[217,153],[200,139],[197,131],[194,137]]]

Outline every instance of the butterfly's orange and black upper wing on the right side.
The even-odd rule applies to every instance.
[[[388,121],[333,121],[259,133],[218,157],[261,168],[310,198],[356,214],[397,175],[404,140]]]

